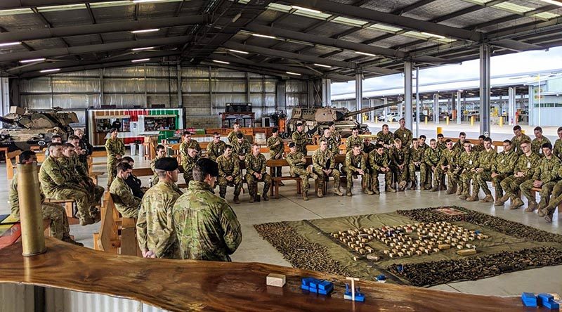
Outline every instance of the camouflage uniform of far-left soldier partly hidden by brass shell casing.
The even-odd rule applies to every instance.
[[[51,204],[45,202],[45,195],[39,190],[41,195],[41,216],[44,220],[51,220],[51,236],[62,240],[63,238],[70,238],[70,228],[68,226],[68,219],[63,206],[60,204]],[[18,195],[18,173],[14,174],[12,183],[10,184],[9,201],[11,207],[11,214],[14,218],[20,219],[20,200]]]

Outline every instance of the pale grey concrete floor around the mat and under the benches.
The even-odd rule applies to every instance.
[[[136,167],[148,167],[149,163],[136,157]],[[103,159],[96,158],[96,162]],[[105,167],[98,166],[94,170],[105,171]],[[6,176],[6,165],[0,164],[0,176]],[[148,176],[142,177],[143,183],[148,183]],[[181,178],[183,181],[183,178]],[[8,199],[8,183],[6,178],[0,179],[0,200]],[[99,184],[105,186],[106,179],[100,178]],[[382,182],[384,183],[384,182]],[[350,216],[355,214],[377,214],[393,212],[397,209],[414,209],[421,207],[436,207],[438,205],[459,205],[479,212],[492,214],[511,221],[521,222],[528,226],[540,228],[553,233],[562,234],[561,221],[558,212],[554,214],[554,222],[546,223],[537,214],[525,214],[523,209],[497,209],[492,204],[479,202],[464,202],[455,195],[445,195],[445,192],[431,193],[429,191],[409,190],[402,193],[381,195],[365,195],[358,187],[353,197],[335,197],[329,193],[326,197],[317,198],[311,195],[311,200],[304,202],[296,195],[294,181],[288,181],[280,188],[280,199],[269,202],[249,204],[248,195],[242,195],[241,204],[232,204],[242,224],[242,245],[233,254],[233,261],[263,262],[290,266],[268,242],[254,230],[253,225],[274,221],[299,221],[303,219],[330,218],[335,216]],[[227,200],[232,200],[232,188],[228,189]],[[0,214],[9,213],[7,204],[0,206]],[[93,246],[92,233],[99,230],[100,223],[90,226],[71,226],[71,234],[86,247]],[[562,294],[562,266],[537,268],[516,273],[507,273],[495,278],[483,280],[455,282],[432,287],[438,290],[452,292],[468,292],[488,295],[520,295],[521,292],[558,292]]]

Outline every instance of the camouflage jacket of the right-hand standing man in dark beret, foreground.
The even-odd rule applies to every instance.
[[[181,259],[230,261],[242,242],[240,223],[207,183],[191,181],[171,210]]]

